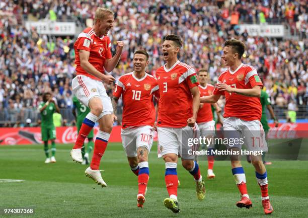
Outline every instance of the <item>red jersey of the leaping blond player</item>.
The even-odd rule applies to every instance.
[[[79,34],[75,44],[75,64],[76,64],[76,74],[85,75],[94,80],[99,80],[93,75],[86,72],[80,66],[79,50],[90,51],[89,62],[102,74],[104,74],[104,64],[106,59],[112,58],[111,55],[111,42],[108,36],[103,36],[99,38],[94,33],[91,27],[86,28],[81,34]]]

